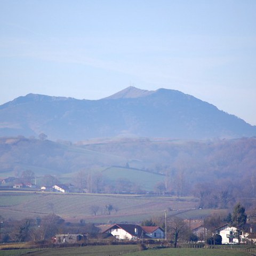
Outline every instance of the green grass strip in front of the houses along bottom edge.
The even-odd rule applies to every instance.
[[[6,250],[0,251],[0,256],[249,256],[249,253],[238,252],[221,249],[183,249],[183,248],[167,248],[167,249],[148,249],[138,251],[138,245],[104,245],[104,246],[85,246],[85,247],[66,247],[59,249],[22,249],[22,250]]]

